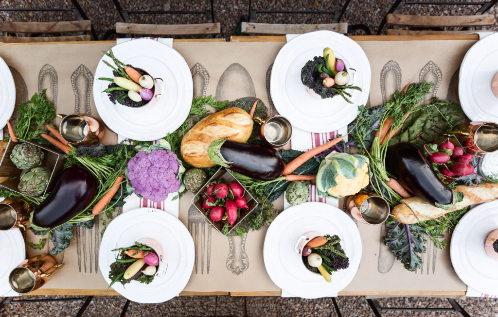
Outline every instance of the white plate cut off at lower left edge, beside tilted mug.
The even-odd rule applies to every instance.
[[[0,245],[3,254],[0,257],[0,296],[12,291],[8,283],[10,271],[26,259],[24,239],[19,229],[0,231]]]

